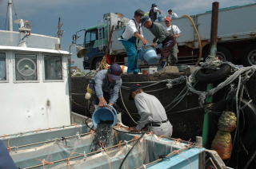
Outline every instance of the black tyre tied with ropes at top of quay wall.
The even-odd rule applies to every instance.
[[[201,82],[214,83],[224,80],[231,73],[230,65],[221,65],[218,70],[214,69],[200,69],[195,75],[196,79]]]

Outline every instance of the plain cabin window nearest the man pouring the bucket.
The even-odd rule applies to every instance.
[[[62,57],[45,56],[45,80],[62,80]]]

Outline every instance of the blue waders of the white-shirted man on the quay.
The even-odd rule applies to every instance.
[[[122,45],[125,46],[126,55],[128,57],[127,73],[138,74],[138,51],[136,45],[136,37],[130,37],[128,41],[122,40]]]

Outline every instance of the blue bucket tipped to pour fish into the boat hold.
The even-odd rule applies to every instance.
[[[94,127],[104,121],[113,121],[111,127],[117,124],[117,111],[110,105],[103,108],[97,108],[92,116]]]

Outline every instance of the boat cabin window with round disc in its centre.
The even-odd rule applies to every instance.
[[[38,81],[37,56],[34,54],[15,55],[16,81]]]

